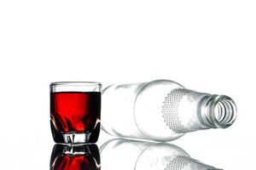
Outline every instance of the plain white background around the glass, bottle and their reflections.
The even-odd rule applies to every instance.
[[[232,127],[173,144],[215,167],[253,169],[255,8],[253,0],[0,1],[1,169],[49,169],[50,82],[160,78],[229,95],[238,107]]]

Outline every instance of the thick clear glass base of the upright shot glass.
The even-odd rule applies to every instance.
[[[58,144],[84,144],[96,143],[99,138],[101,123],[98,122],[96,128],[90,133],[61,133],[55,129],[50,122],[51,132],[55,143]]]

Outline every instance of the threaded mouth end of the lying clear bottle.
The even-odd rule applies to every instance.
[[[208,95],[202,100],[201,119],[207,127],[230,127],[236,121],[236,104],[225,95]]]

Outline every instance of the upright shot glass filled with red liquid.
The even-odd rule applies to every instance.
[[[50,126],[56,143],[96,143],[100,133],[99,82],[50,84]]]

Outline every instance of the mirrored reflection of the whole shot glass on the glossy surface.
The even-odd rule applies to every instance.
[[[50,158],[51,170],[100,170],[96,144],[55,144]]]

